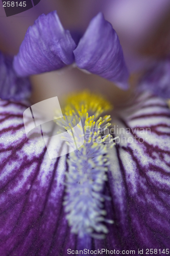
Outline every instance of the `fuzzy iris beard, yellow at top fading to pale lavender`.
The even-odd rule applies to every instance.
[[[104,135],[110,126],[110,115],[100,117],[112,109],[111,104],[101,95],[84,91],[66,98],[63,115],[75,116],[65,125],[58,123],[68,131],[81,119],[84,144],[69,154],[67,159],[65,205],[66,219],[71,231],[79,237],[85,234],[94,238],[104,238],[108,232],[103,222],[113,223],[104,216],[104,184],[107,181],[109,165],[108,149],[114,145],[110,134]],[[80,129],[82,129],[80,127]],[[63,132],[63,131],[61,131]],[[100,233],[100,234],[99,234]]]

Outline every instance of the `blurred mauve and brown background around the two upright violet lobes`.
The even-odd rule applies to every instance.
[[[33,94],[31,102],[88,88],[105,94],[119,105],[130,97],[138,77],[157,58],[170,50],[169,0],[41,0],[25,12],[6,17],[0,3],[0,49],[15,55],[29,26],[42,13],[57,10],[65,29],[84,32],[90,19],[100,11],[119,36],[125,60],[131,73],[130,89],[123,92],[113,83],[95,75],[88,75],[72,66],[59,71],[31,77]]]

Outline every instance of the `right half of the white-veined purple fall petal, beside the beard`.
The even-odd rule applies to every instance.
[[[107,207],[115,224],[106,247],[162,252],[170,246],[170,110],[145,94],[113,121],[120,142],[110,153]]]

